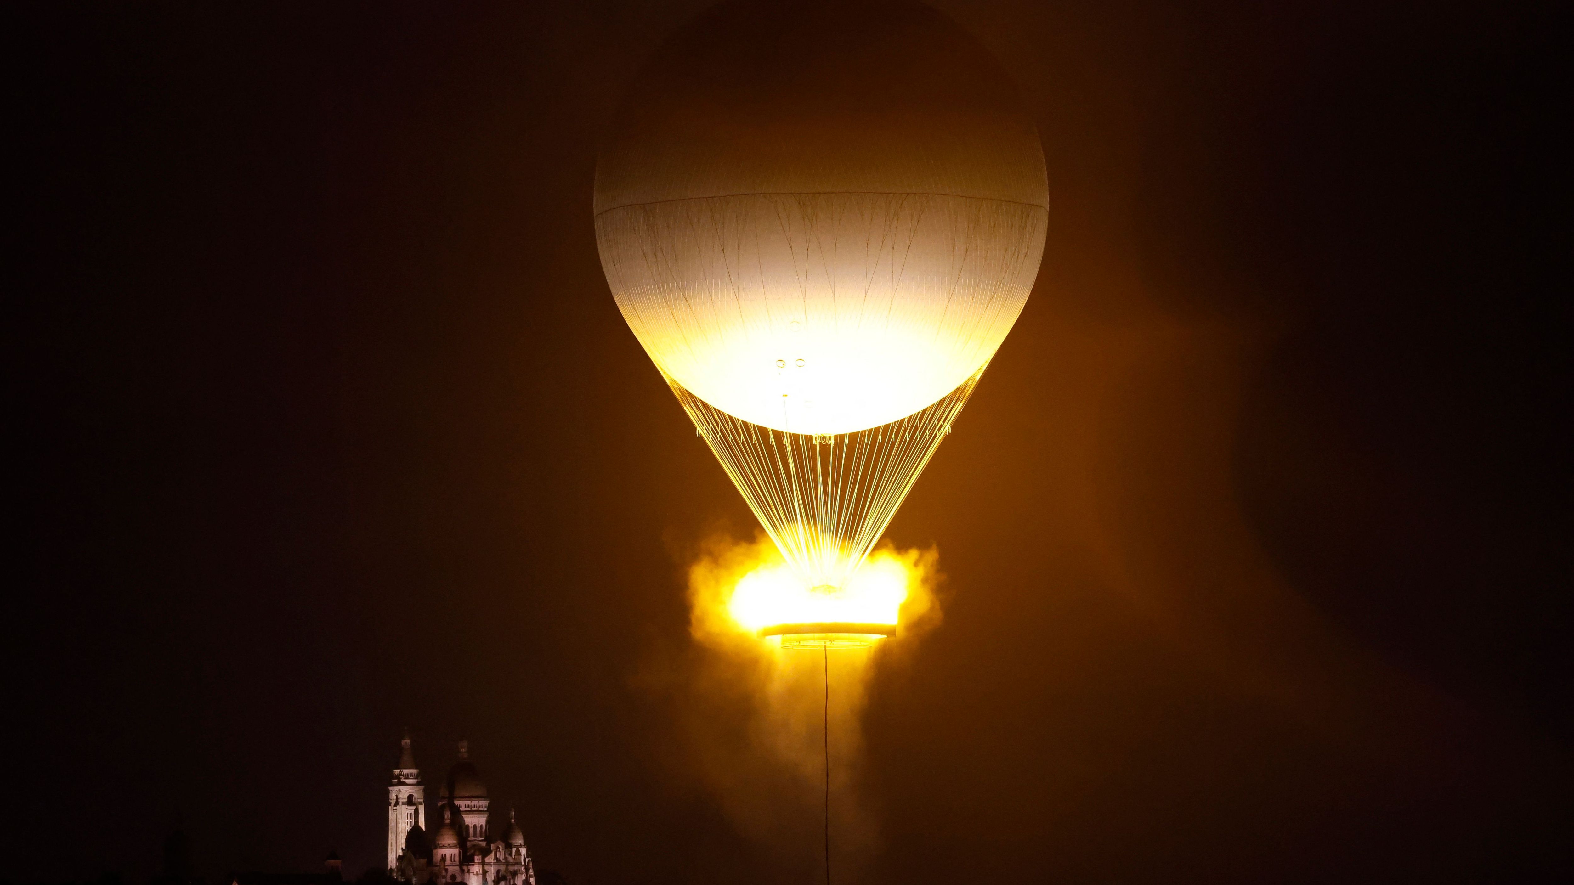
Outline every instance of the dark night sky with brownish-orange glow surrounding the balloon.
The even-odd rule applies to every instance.
[[[576,885],[801,880],[691,772],[682,573],[751,517],[590,222],[700,6],[8,8],[3,877],[176,825],[209,877],[359,872],[408,724]],[[1566,872],[1550,14],[937,6],[1050,236],[888,532],[948,583],[872,690],[869,880]]]

